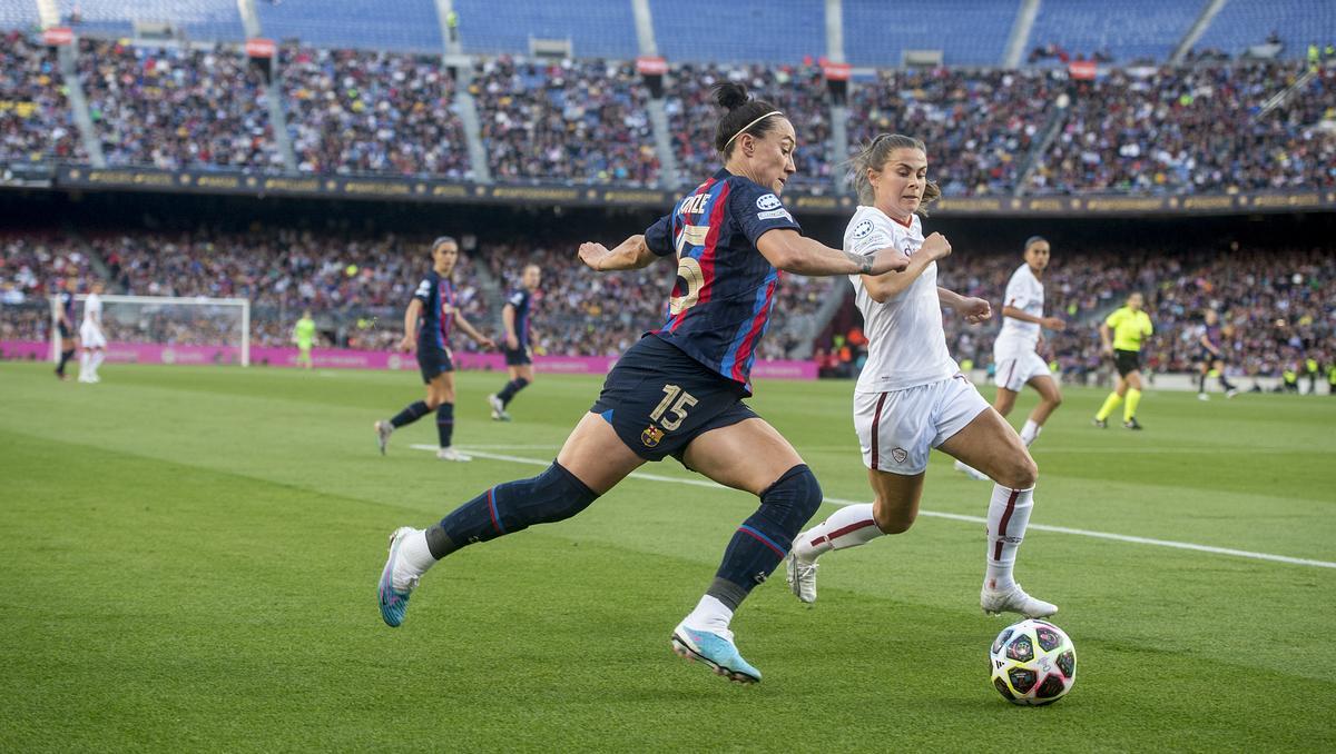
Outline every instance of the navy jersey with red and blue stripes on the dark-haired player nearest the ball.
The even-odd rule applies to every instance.
[[[668,316],[653,335],[748,386],[780,278],[756,242],[775,228],[802,231],[775,192],[727,169],[679,200],[645,231],[649,251],[677,254]]]

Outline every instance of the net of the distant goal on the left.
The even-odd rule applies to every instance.
[[[73,334],[87,295],[75,300]],[[51,299],[51,352],[60,356],[60,302]],[[250,300],[102,295],[110,360],[250,366]]]

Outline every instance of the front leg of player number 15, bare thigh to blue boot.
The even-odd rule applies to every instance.
[[[704,432],[687,446],[683,463],[720,484],[758,495],[760,507],[733,532],[705,595],[673,629],[673,651],[732,681],[755,683],[760,671],[739,654],[728,626],[820,506],[820,486],[794,446],[760,418]]]

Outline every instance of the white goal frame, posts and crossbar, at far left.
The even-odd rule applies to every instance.
[[[87,300],[79,294],[75,300]],[[60,299],[51,298],[51,356],[60,359]],[[83,323],[83,307],[75,308],[73,334]],[[238,350],[243,367],[250,366],[250,299],[204,296],[102,295],[102,330],[108,343],[154,346],[226,346]]]

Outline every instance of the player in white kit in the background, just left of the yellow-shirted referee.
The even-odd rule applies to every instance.
[[[998,386],[993,408],[1007,416],[1015,407],[1015,396],[1021,388],[1030,386],[1039,394],[1039,404],[1030,411],[1025,427],[1021,428],[1021,442],[1030,447],[1049,415],[1062,404],[1062,391],[1053,379],[1049,364],[1039,356],[1042,328],[1062,331],[1067,323],[1057,316],[1043,316],[1043,271],[1049,267],[1051,250],[1042,236],[1030,236],[1025,242],[1025,264],[1017,267],[1006,284],[1006,298],[1002,304],[1002,332],[993,342],[993,363],[997,371],[993,380]],[[955,462],[957,471],[963,471],[975,479],[987,479],[979,471]]]

